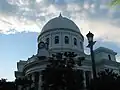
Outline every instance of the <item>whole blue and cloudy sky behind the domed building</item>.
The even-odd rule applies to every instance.
[[[42,27],[60,13],[77,24],[85,46],[91,31],[97,41],[95,48],[114,50],[120,62],[120,6],[110,7],[110,1],[0,0],[0,78],[15,79],[17,62],[36,54]]]

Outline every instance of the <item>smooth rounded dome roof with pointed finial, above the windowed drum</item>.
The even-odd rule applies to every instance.
[[[71,29],[73,31],[80,32],[79,28],[72,20],[62,17],[61,14],[59,17],[53,18],[50,21],[48,21],[42,28],[41,32],[46,32],[48,30],[54,30],[59,28]]]

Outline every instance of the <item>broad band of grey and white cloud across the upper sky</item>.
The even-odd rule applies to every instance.
[[[60,12],[72,19],[85,35],[120,43],[120,11],[110,8],[111,0],[1,0],[0,33],[40,32]]]

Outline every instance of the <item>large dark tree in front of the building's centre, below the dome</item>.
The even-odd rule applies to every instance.
[[[66,58],[63,58],[63,55]],[[49,64],[42,71],[43,90],[79,90],[83,88],[80,70],[74,70],[73,52],[57,53],[49,59]]]

